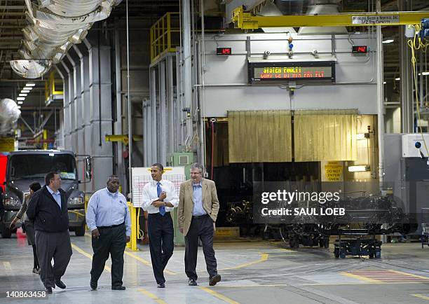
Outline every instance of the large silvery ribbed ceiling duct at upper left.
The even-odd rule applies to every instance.
[[[108,18],[120,3],[121,0],[25,0],[29,25],[22,30],[25,39],[18,51],[23,60],[11,61],[13,71],[25,78],[43,76],[73,44],[81,43],[95,22]]]

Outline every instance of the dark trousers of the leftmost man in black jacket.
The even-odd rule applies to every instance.
[[[55,281],[64,275],[71,258],[69,230],[61,233],[36,230],[36,250],[40,264],[40,279],[45,287],[55,288]]]

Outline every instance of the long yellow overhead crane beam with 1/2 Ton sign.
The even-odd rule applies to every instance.
[[[367,27],[369,25],[417,25],[429,12],[346,13],[336,15],[282,15],[255,16],[243,7],[233,11],[232,21],[236,28],[259,29],[260,27]]]

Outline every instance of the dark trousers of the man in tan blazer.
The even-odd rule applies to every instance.
[[[196,262],[198,237],[203,243],[203,253],[210,277],[217,275],[217,262],[213,249],[213,221],[208,215],[192,216],[191,226],[185,236],[185,272],[189,279],[198,279]]]

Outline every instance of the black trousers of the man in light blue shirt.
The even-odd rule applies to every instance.
[[[93,237],[93,268],[91,281],[97,282],[103,272],[109,254],[111,257],[111,286],[122,286],[123,251],[125,251],[125,225],[98,228],[100,237]]]

